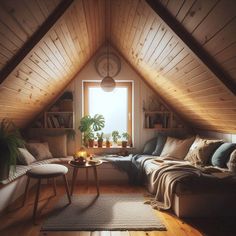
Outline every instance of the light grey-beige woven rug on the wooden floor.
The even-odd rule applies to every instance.
[[[141,194],[64,196],[41,231],[166,230]]]

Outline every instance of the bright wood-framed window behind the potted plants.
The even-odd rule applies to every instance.
[[[104,92],[99,82],[84,82],[84,114],[102,114],[104,134],[117,130],[132,136],[132,82],[117,82],[112,92]]]

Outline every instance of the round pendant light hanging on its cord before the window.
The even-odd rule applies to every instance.
[[[106,48],[106,52],[107,52],[107,75],[102,79],[101,81],[101,88],[105,91],[105,92],[112,92],[115,87],[116,87],[116,82],[115,80],[110,76],[109,74],[109,70],[110,70],[110,62],[109,62],[109,54],[110,54],[110,50],[109,50],[109,40],[111,40],[111,2],[109,0],[106,0],[106,2],[108,2],[109,4],[109,9],[108,6],[106,4],[106,8],[105,8],[105,13],[109,13],[109,39],[106,37],[106,44],[107,44],[107,48]],[[107,10],[107,11],[106,11]],[[106,15],[106,14],[105,14]],[[105,19],[105,29],[106,29],[106,19]],[[106,36],[107,36],[107,30],[106,32]]]

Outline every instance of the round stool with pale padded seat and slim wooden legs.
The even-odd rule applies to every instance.
[[[34,223],[35,223],[35,220],[36,220],[36,212],[37,212],[37,207],[38,207],[39,192],[40,192],[40,185],[41,185],[41,180],[42,179],[53,178],[54,194],[56,195],[56,185],[55,185],[54,178],[58,177],[58,176],[63,176],[64,183],[65,183],[65,188],[66,188],[66,193],[67,193],[67,197],[68,197],[68,200],[69,200],[69,204],[71,203],[71,198],[70,198],[69,188],[68,188],[68,182],[67,182],[67,179],[66,179],[66,173],[67,172],[68,172],[67,167],[65,167],[63,165],[58,165],[58,164],[44,164],[44,165],[41,165],[41,166],[34,167],[31,170],[28,170],[26,172],[26,175],[27,175],[28,178],[27,178],[27,183],[26,183],[26,187],[25,187],[23,206],[25,205],[25,201],[26,201],[26,198],[27,198],[30,178],[38,179],[37,193],[36,193],[36,197],[35,197],[34,210],[33,210]]]

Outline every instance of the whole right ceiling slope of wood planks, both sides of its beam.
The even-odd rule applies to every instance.
[[[198,36],[234,80],[236,2],[162,4]],[[111,9],[112,43],[169,105],[196,128],[236,133],[235,94],[145,1],[112,1]]]

